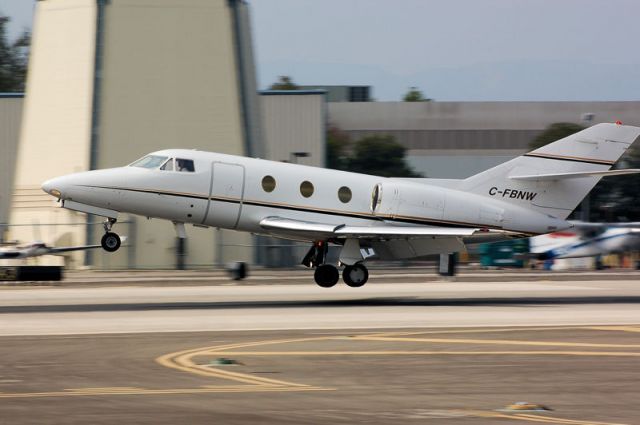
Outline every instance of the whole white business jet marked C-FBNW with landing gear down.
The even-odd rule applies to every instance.
[[[364,260],[453,253],[465,244],[528,237],[571,227],[565,219],[609,175],[640,128],[598,124],[462,180],[383,178],[196,150],[167,149],[126,167],[70,174],[42,189],[75,211],[106,217],[102,246],[126,212],[308,241],[302,260],[318,285],[338,268],[327,245],[341,245],[349,286],[366,283]]]

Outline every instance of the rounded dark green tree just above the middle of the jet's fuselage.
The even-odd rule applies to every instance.
[[[355,143],[348,170],[382,177],[422,177],[405,160],[406,149],[393,136],[369,136]]]

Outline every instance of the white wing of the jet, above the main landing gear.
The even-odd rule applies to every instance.
[[[435,239],[464,238],[475,236],[484,238],[488,235],[516,236],[513,232],[479,227],[427,227],[400,226],[381,222],[375,226],[352,226],[346,224],[328,224],[294,220],[283,217],[267,217],[260,221],[260,226],[274,235],[297,235],[303,239]]]

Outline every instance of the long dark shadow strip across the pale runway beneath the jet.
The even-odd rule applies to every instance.
[[[291,301],[202,301],[161,303],[112,303],[2,306],[0,314],[10,313],[74,313],[152,310],[225,310],[256,308],[350,308],[350,307],[542,307],[575,304],[640,304],[640,296],[584,297],[511,297],[511,298],[437,298],[379,297],[349,300]]]

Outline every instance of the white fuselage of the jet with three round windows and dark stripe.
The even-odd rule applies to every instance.
[[[406,226],[476,226],[523,234],[570,227],[564,220],[510,203],[510,195],[487,198],[430,185],[428,180],[390,179],[192,150],[152,155],[193,161],[193,170],[178,171],[177,165],[174,170],[127,166],[58,177],[43,188],[72,209],[78,203],[104,209],[108,213],[102,215],[107,216],[130,213],[253,233],[265,233],[260,221],[269,216],[336,225],[385,221]]]

